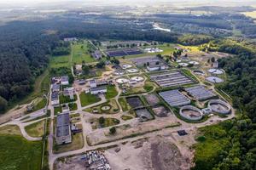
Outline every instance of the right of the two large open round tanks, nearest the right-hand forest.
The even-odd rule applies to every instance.
[[[222,115],[228,115],[231,111],[231,106],[224,102],[221,99],[212,99],[208,103],[208,108],[210,108],[213,112],[222,114]]]

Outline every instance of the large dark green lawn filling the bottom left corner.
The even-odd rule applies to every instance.
[[[43,144],[18,135],[0,134],[0,169],[40,170]]]

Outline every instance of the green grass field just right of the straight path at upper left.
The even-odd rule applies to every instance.
[[[78,42],[72,46],[73,59],[72,62],[76,64],[82,64],[83,60],[85,63],[96,62],[94,58],[90,56],[87,48],[87,41]]]

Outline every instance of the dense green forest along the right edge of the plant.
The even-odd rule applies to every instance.
[[[233,106],[241,111],[236,119],[221,123],[226,141],[218,155],[211,160],[195,160],[195,169],[252,170],[256,168],[256,53],[241,43],[221,41],[212,44],[218,51],[236,54],[219,59],[219,66],[226,71],[228,80],[218,88],[231,95]],[[217,133],[216,133],[217,134]],[[217,135],[212,135],[217,137]],[[206,166],[207,165],[207,166]]]

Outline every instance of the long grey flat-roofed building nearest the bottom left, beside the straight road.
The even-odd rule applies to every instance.
[[[55,139],[57,144],[72,142],[69,113],[62,113],[56,118]]]

